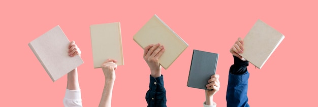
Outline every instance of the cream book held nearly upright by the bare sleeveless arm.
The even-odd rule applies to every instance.
[[[124,64],[119,22],[90,25],[90,38],[94,68],[100,68],[107,59]]]

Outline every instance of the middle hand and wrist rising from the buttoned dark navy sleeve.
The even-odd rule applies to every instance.
[[[157,78],[161,76],[161,65],[159,63],[159,58],[164,52],[165,48],[160,44],[152,44],[144,48],[143,57],[150,68],[151,77]]]

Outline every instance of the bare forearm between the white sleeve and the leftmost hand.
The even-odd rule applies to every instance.
[[[78,74],[77,68],[73,69],[70,73],[68,73],[68,85],[67,89],[69,90],[79,90],[79,82],[78,82]]]

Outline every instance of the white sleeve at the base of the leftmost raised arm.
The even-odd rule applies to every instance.
[[[65,107],[82,107],[81,90],[66,89],[63,104]]]

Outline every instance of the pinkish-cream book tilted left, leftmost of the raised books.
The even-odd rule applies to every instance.
[[[84,63],[79,55],[69,56],[69,45],[58,25],[28,44],[53,82]]]

